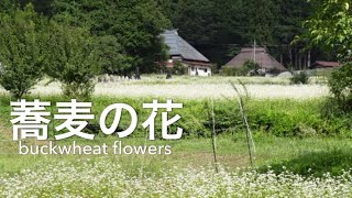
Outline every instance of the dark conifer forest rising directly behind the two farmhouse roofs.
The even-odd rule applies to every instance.
[[[266,45],[276,58],[290,61],[290,43],[304,32],[310,13],[306,0],[158,0],[179,34],[218,65],[229,62],[233,46]],[[314,51],[312,51],[314,52]],[[233,56],[232,56],[233,57]]]

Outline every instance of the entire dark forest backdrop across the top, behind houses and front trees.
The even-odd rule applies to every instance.
[[[158,36],[165,29],[177,29],[218,68],[254,40],[286,67],[305,68],[308,57],[334,59],[304,42],[293,44],[315,9],[307,0],[1,0],[0,12],[30,2],[47,21],[87,29],[109,74],[157,70],[155,63],[166,58]]]

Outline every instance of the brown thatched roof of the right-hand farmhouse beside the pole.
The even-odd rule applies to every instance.
[[[224,66],[232,68],[240,68],[248,61],[253,61],[254,48],[248,47],[242,48],[240,54],[238,54],[233,59],[231,59]],[[260,65],[261,68],[266,69],[277,69],[277,70],[287,70],[280,63],[278,63],[273,56],[266,53],[264,47],[255,48],[255,63]]]

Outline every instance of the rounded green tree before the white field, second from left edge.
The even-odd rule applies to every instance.
[[[94,78],[100,73],[100,61],[92,37],[85,29],[55,22],[50,29],[47,75],[63,84],[66,96],[88,99],[94,91]]]

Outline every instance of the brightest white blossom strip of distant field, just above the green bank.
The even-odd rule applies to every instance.
[[[238,86],[242,95],[245,94]],[[191,91],[189,91],[191,90]],[[311,99],[329,96],[329,88],[324,85],[246,85],[248,94],[257,99]],[[0,88],[0,94],[6,92]],[[31,91],[34,96],[61,95],[61,85],[36,86]],[[234,97],[235,92],[229,84],[97,84],[95,96],[111,97],[174,97],[185,99]]]

